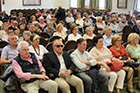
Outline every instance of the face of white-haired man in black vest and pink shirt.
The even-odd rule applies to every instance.
[[[18,50],[19,54],[22,58],[28,58],[29,57],[29,48],[26,44],[21,44],[21,49]]]

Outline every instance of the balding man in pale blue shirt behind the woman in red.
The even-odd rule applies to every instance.
[[[112,45],[112,30],[109,26],[105,27],[105,34],[103,35],[104,46]]]

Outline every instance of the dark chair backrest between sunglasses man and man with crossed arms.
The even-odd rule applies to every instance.
[[[76,49],[76,41],[70,40],[65,43],[64,50]]]

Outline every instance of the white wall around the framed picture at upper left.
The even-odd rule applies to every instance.
[[[22,0],[5,0],[5,4],[2,4],[2,10],[10,14],[12,9],[56,8],[58,4],[69,8],[70,0],[41,0],[41,6],[23,6]]]

